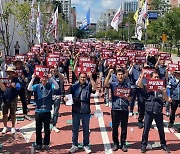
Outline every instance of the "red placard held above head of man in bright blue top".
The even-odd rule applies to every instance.
[[[39,78],[43,78],[43,77],[47,78],[49,71],[50,71],[49,67],[45,67],[45,66],[36,66],[35,67],[35,74]]]

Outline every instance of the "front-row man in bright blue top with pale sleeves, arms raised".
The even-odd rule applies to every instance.
[[[35,93],[36,111],[36,150],[42,149],[42,125],[44,125],[44,149],[49,151],[50,144],[50,119],[52,110],[52,94],[54,89],[58,89],[58,83],[49,74],[47,77],[40,78],[40,83],[33,85],[36,75],[32,75],[32,79],[28,85],[28,90]]]

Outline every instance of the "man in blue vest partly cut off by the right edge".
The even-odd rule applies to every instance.
[[[175,121],[175,113],[180,104],[180,71],[175,71],[167,85],[168,101],[171,103],[171,113],[168,127],[171,128]]]

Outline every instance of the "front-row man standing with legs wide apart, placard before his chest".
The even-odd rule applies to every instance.
[[[158,128],[161,149],[163,149],[166,152],[170,152],[166,146],[163,113],[162,113],[163,97],[165,100],[168,99],[166,88],[162,88],[159,91],[147,91],[145,85],[143,85],[143,78],[144,78],[144,72],[140,75],[137,81],[137,86],[139,86],[140,88],[144,88],[146,92],[145,118],[144,118],[144,130],[143,130],[142,142],[141,142],[141,153],[146,153],[149,130],[151,128],[153,119],[155,120]],[[150,74],[150,78],[159,79],[159,75],[157,72],[152,72]]]

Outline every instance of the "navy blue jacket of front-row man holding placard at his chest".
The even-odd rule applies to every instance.
[[[123,110],[129,111],[129,101],[126,98],[118,97],[114,95],[117,88],[131,88],[131,83],[129,79],[125,79],[123,83],[110,82],[111,96],[112,96],[112,110]]]

